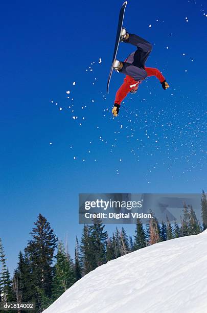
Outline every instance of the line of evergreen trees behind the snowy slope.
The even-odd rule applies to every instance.
[[[19,252],[12,278],[0,239],[0,304],[33,302],[36,305],[34,312],[40,313],[96,267],[148,245],[196,235],[207,229],[207,199],[204,191],[201,211],[202,225],[193,207],[187,204],[183,205],[183,215],[179,224],[176,221],[170,222],[168,217],[166,222],[159,223],[156,217],[153,217],[144,226],[142,221],[137,219],[133,236],[128,236],[122,227],[116,228],[110,237],[102,220],[95,218],[93,225],[84,225],[80,242],[76,237],[74,260],[67,247],[58,241],[49,221],[39,214],[27,247],[24,252]],[[21,312],[25,311],[18,311]]]

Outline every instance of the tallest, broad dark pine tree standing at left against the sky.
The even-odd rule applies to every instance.
[[[47,219],[39,214],[25,249],[30,264],[32,284],[36,289],[36,306],[41,308],[42,295],[51,297],[54,252],[57,238]]]

